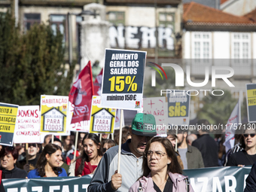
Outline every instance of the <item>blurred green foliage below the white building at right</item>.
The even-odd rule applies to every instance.
[[[209,120],[212,124],[226,124],[238,99],[233,99],[229,90],[223,96],[209,94],[203,98],[203,108],[197,112],[198,119]],[[216,92],[216,94],[219,94]]]

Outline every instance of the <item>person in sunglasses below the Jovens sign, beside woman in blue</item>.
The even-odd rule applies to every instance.
[[[37,143],[29,143],[28,148],[28,163],[26,163],[26,157],[23,160],[20,160],[17,162],[17,167],[20,169],[26,170],[26,172],[31,171],[32,169],[35,169],[35,164],[38,161],[38,144]]]

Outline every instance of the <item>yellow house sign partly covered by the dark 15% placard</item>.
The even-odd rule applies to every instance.
[[[93,96],[90,114],[90,133],[113,133],[115,108],[101,108],[101,97]]]

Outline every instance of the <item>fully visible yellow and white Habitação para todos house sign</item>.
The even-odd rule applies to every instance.
[[[66,135],[69,96],[41,96],[40,133]]]

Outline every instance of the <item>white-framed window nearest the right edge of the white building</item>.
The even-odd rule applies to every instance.
[[[242,32],[233,33],[231,50],[233,59],[251,59],[250,35]]]

